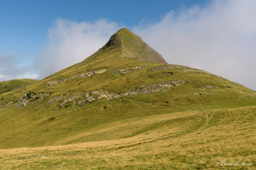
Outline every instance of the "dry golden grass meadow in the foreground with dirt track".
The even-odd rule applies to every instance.
[[[131,121],[132,126],[152,120],[172,122],[146,133],[118,140],[63,146],[0,150],[1,169],[255,169],[256,107],[177,112]],[[186,117],[200,122],[191,127]],[[184,121],[183,119],[184,118]],[[137,123],[136,123],[137,122]],[[113,126],[115,124],[112,124]],[[121,126],[120,124],[116,124]],[[110,127],[106,127],[110,128]],[[198,129],[200,128],[200,130]],[[186,131],[190,129],[191,131]],[[196,131],[195,133],[193,133]],[[45,155],[39,156],[37,155]],[[26,156],[26,159],[21,159]],[[32,159],[29,159],[33,156]],[[36,157],[35,157],[36,156]],[[240,159],[251,166],[217,166]],[[243,161],[244,162],[244,161]],[[61,167],[60,167],[61,166]]]

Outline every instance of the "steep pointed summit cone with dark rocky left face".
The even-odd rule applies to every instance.
[[[101,50],[119,48],[120,57],[137,58],[143,62],[167,64],[163,56],[148,46],[138,35],[126,28],[113,34]]]

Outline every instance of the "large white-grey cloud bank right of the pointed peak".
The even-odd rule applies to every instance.
[[[212,1],[133,28],[170,64],[206,70],[256,90],[256,1]]]

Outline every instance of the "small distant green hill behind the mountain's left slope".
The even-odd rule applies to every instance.
[[[30,84],[37,82],[38,80],[34,79],[15,79],[8,81],[0,82],[0,94],[12,91],[14,89],[19,89],[22,87],[26,87]]]

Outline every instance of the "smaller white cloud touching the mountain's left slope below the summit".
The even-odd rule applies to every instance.
[[[57,19],[49,29],[49,42],[36,60],[39,78],[86,59],[104,46],[118,29],[116,23],[104,19],[93,23]]]

